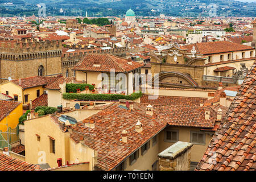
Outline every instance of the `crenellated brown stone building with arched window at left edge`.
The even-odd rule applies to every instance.
[[[61,73],[61,42],[0,41],[0,83],[32,76],[48,76]]]

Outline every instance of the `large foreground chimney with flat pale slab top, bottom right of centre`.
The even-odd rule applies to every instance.
[[[189,171],[192,143],[177,142],[158,154],[160,171]]]

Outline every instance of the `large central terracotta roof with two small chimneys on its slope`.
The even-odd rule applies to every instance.
[[[139,106],[137,103],[134,105]],[[72,127],[71,138],[80,142],[80,137],[84,137],[84,143],[98,151],[97,167],[103,170],[116,167],[166,127],[163,121],[136,110],[122,109],[118,103],[110,104],[108,108],[86,119],[95,121],[94,129],[90,129],[90,138],[88,127],[83,123]],[[135,131],[138,119],[142,123],[141,133]],[[122,130],[127,131],[127,143],[120,140]]]

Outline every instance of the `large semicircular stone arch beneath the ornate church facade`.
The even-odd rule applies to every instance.
[[[177,80],[173,81],[172,78],[178,78]],[[187,73],[180,73],[180,72],[160,72],[159,75],[152,78],[152,83],[155,80],[159,80],[159,86],[168,87],[171,85],[181,85],[181,86],[188,86],[188,87],[198,87],[199,85],[193,78],[189,76]]]

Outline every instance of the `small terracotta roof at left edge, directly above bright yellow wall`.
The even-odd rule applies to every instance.
[[[0,100],[0,121],[20,104],[21,102]]]

